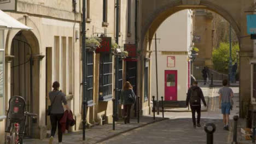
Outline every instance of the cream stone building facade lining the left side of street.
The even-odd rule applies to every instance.
[[[13,1],[12,1],[13,2]],[[50,129],[46,109],[50,105],[48,92],[51,84],[59,81],[67,95],[68,105],[77,121],[72,131],[82,128],[82,0],[19,0],[14,10],[5,13],[33,28],[31,31],[5,31],[5,110],[13,95],[25,98],[26,110],[37,113],[37,121],[28,121],[27,135],[44,138]],[[119,46],[135,44],[135,0],[120,1]],[[115,35],[115,0],[86,1],[86,37],[111,37]],[[0,8],[3,9],[3,7]],[[114,98],[114,56],[95,51],[88,52],[88,126],[112,123]],[[136,63],[120,59],[119,88],[125,80],[127,67]],[[104,71],[102,68],[107,69]],[[130,72],[129,72],[130,73]],[[106,76],[107,75],[107,76]],[[102,80],[107,80],[102,81]],[[135,78],[135,80],[138,77]],[[138,89],[136,81],[133,86]],[[103,90],[102,90],[103,89]],[[108,89],[108,91],[104,91]],[[106,96],[106,97],[104,97]],[[142,99],[142,101],[144,101]],[[139,103],[141,104],[141,103]],[[121,110],[119,106],[119,115]],[[143,113],[149,113],[149,102],[141,104]],[[0,141],[4,139],[5,121],[0,121]],[[32,134],[33,133],[33,134]],[[1,143],[0,142],[0,143]],[[2,143],[1,143],[2,144]]]

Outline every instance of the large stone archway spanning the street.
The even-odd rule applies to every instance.
[[[156,29],[164,22],[170,15],[184,9],[208,9],[223,16],[224,19],[230,22],[234,28],[237,38],[240,43],[240,75],[243,79],[240,80],[240,116],[244,117],[246,114],[246,106],[249,105],[251,98],[251,81],[250,65],[248,59],[253,57],[253,41],[249,38],[240,38],[247,35],[246,26],[246,10],[252,8],[253,0],[236,0],[236,1],[222,1],[222,0],[142,0],[139,1],[139,47],[142,51],[141,63],[138,66],[137,73],[143,72],[144,57],[148,53],[151,40]],[[139,80],[141,93],[143,92],[143,76]],[[141,94],[142,95],[142,94]]]

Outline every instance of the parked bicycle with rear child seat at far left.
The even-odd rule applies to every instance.
[[[6,137],[5,144],[22,144],[27,117],[37,116],[37,114],[25,112],[25,105],[24,98],[20,96],[13,96],[9,100],[5,132],[10,135]]]

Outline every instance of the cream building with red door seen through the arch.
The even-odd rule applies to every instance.
[[[168,29],[168,31],[166,30]],[[168,17],[158,28],[159,99],[165,106],[185,106],[190,87],[190,51],[193,47],[193,10],[182,10]],[[152,95],[156,96],[155,41],[152,53]]]

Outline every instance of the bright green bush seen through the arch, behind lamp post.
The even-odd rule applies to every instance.
[[[232,45],[232,64],[236,62],[236,51],[239,51],[239,45]],[[229,43],[220,43],[218,49],[212,53],[214,69],[228,74],[229,71]]]

